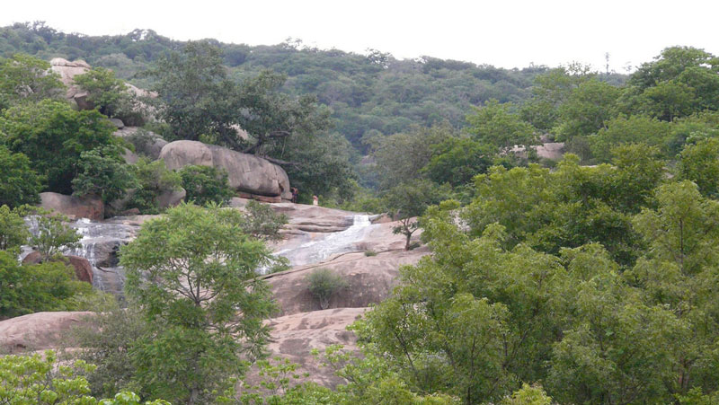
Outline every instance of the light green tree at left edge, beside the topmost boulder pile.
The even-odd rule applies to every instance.
[[[48,62],[22,53],[0,58],[0,110],[21,103],[59,99],[65,86],[49,70]]]

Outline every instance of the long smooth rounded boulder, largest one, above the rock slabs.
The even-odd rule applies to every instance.
[[[292,198],[287,173],[277,164],[253,154],[242,154],[196,141],[175,141],[164,145],[160,159],[163,159],[171,170],[190,165],[224,169],[230,187],[238,191],[267,197]]]

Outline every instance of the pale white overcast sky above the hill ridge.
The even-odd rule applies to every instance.
[[[250,45],[293,37],[318,48],[502,67],[579,61],[604,70],[608,52],[610,69],[625,72],[672,45],[719,54],[717,12],[717,0],[2,0],[0,25],[45,21],[89,35],[147,28],[174,40]]]

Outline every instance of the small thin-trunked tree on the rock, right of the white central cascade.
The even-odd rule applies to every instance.
[[[384,196],[389,216],[399,221],[393,233],[402,233],[406,238],[404,250],[409,251],[412,235],[419,229],[417,216],[422,216],[424,210],[432,204],[439,204],[448,198],[448,187],[439,187],[428,180],[413,180],[389,189]]]

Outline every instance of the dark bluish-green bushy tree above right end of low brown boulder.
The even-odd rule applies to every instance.
[[[73,179],[73,195],[98,196],[111,202],[137,187],[132,170],[114,145],[102,146],[80,154],[79,171]]]

